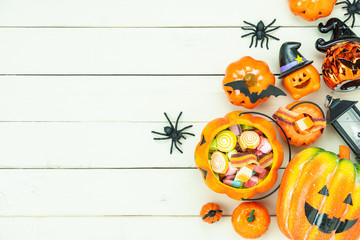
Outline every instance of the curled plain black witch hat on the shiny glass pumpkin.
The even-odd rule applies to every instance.
[[[340,42],[355,41],[360,43],[360,38],[338,18],[330,18],[326,22],[326,25],[319,23],[318,29],[322,33],[327,33],[332,30],[332,36],[328,42],[322,38],[316,41],[315,47],[320,52],[326,52],[331,46]]]

